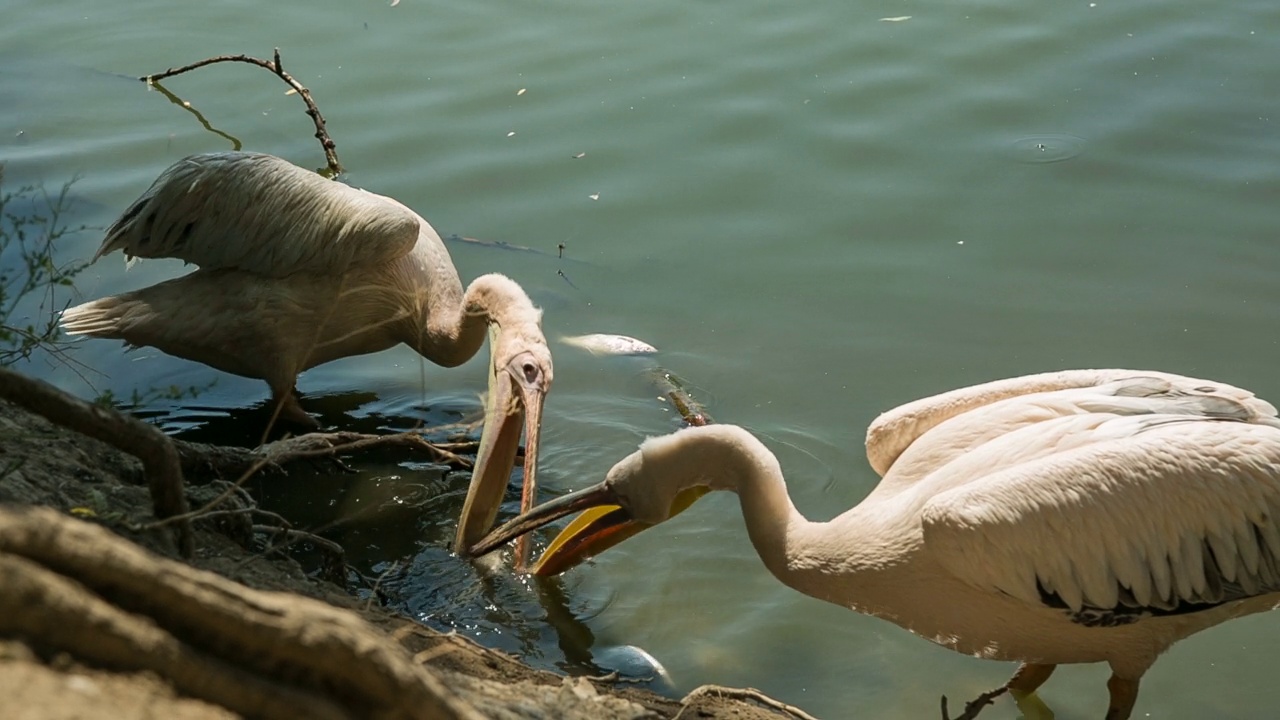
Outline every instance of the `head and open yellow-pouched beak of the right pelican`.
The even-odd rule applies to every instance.
[[[741,438],[739,436],[746,436]],[[710,441],[710,442],[707,442]],[[471,555],[493,552],[566,515],[581,511],[547,547],[534,575],[557,575],[637,533],[687,510],[713,489],[730,489],[719,479],[732,473],[737,456],[714,452],[755,442],[732,425],[707,425],[650,438],[622,459],[604,482],[545,502],[485,536]],[[712,452],[687,452],[690,446]]]

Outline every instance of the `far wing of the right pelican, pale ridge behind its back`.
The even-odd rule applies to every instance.
[[[1119,393],[1149,393],[1151,380],[1164,383],[1164,392],[1183,395],[1213,393],[1236,400],[1262,415],[1275,415],[1268,402],[1252,392],[1225,383],[1201,380],[1155,370],[1062,370],[1039,373],[957,388],[908,402],[883,413],[867,428],[867,459],[877,473],[884,475],[893,462],[924,433],[940,424],[975,409],[1052,391],[1091,388],[1126,383],[1133,389],[1119,388]],[[1160,388],[1157,388],[1160,389]],[[982,438],[973,438],[974,442]]]

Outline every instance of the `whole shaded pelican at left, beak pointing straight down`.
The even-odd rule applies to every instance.
[[[69,334],[123,340],[261,378],[283,418],[300,373],[399,343],[448,368],[490,334],[485,425],[456,544],[488,530],[526,436],[524,505],[536,488],[538,432],[552,384],[541,311],[515,281],[466,292],[440,236],[404,205],[271,155],[209,152],[177,161],[124,211],[93,260],[178,258],[193,273],[70,307]]]

